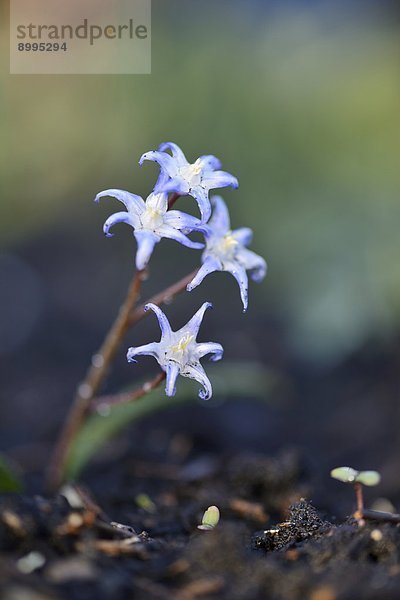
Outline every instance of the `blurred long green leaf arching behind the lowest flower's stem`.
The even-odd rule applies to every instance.
[[[214,398],[229,396],[266,401],[278,379],[265,367],[250,362],[210,365],[207,372],[212,381]],[[93,414],[74,440],[66,463],[65,478],[76,479],[101,446],[133,421],[179,404],[197,403],[196,386],[197,382],[181,378],[177,393],[171,398],[165,396],[164,386],[161,385],[136,402],[111,408],[106,416]]]

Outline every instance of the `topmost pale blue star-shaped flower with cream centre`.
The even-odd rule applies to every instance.
[[[165,150],[171,150],[172,156]],[[228,185],[237,188],[239,185],[236,177],[219,170],[221,163],[215,156],[200,156],[190,164],[179,146],[172,142],[161,144],[158,151],[145,152],[139,164],[144,160],[154,160],[161,167],[154,191],[176,192],[183,196],[190,194],[199,205],[203,223],[207,223],[211,215],[209,190]]]

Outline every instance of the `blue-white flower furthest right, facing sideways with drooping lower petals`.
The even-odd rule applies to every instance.
[[[243,302],[243,312],[248,305],[248,279],[246,271],[251,271],[254,281],[261,281],[267,272],[265,260],[246,246],[251,242],[253,232],[248,227],[231,231],[229,212],[220,196],[211,198],[213,214],[207,225],[199,227],[206,239],[206,248],[202,255],[202,266],[188,284],[190,292],[213,271],[232,273],[239,284]]]

